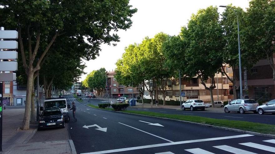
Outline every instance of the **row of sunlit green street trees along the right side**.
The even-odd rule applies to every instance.
[[[151,96],[154,89],[160,89],[165,98],[167,82],[163,81],[177,78],[180,71],[182,77],[198,77],[205,89],[210,91],[213,103],[212,90],[216,88],[214,76],[221,72],[233,83],[236,98],[235,84],[239,77],[235,73],[239,64],[237,16],[240,23],[242,69],[247,68],[249,71],[258,60],[268,59],[275,80],[275,1],[252,0],[246,11],[229,6],[236,12],[229,7],[221,15],[217,7],[200,9],[192,14],[179,35],[158,33],[153,38],[145,37],[139,44],[129,45],[116,63],[117,81],[123,85],[131,85],[133,82],[134,86],[142,86],[141,96],[144,88]],[[227,75],[223,64],[232,67],[233,78]],[[207,86],[208,79],[210,85]],[[146,80],[156,82],[156,87],[152,87],[149,82],[145,83]]]

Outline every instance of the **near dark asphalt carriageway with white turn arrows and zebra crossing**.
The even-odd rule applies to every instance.
[[[69,98],[69,104],[75,101],[71,95],[65,97]],[[69,133],[77,153],[269,154],[275,152],[275,140],[272,138],[168,119],[98,110],[89,108],[85,104],[87,103],[76,101],[78,121],[69,122]]]

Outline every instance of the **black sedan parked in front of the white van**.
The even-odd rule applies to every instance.
[[[38,129],[53,127],[65,128],[64,116],[59,108],[45,109],[39,117]]]

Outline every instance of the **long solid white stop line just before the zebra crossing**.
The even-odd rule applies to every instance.
[[[186,144],[186,143],[224,140],[224,139],[230,139],[230,138],[243,138],[243,137],[249,137],[249,136],[254,136],[254,135],[243,134],[243,135],[234,135],[234,136],[226,136],[226,137],[219,137],[219,138],[206,138],[206,139],[189,140],[189,141],[160,143],[160,144],[153,144],[153,145],[146,145],[146,146],[139,146],[139,147],[127,147],[127,148],[122,148],[122,149],[113,149],[113,150],[98,151],[98,152],[88,152],[88,153],[82,153],[82,154],[103,154],[103,153],[112,153],[112,152],[123,152],[123,151],[146,149],[146,148],[152,148],[152,147],[163,147],[163,146]]]

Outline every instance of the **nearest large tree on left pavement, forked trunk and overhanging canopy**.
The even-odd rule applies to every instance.
[[[7,30],[18,31],[19,51],[27,74],[22,129],[29,129],[35,73],[40,70],[42,61],[53,43],[62,35],[78,40],[83,40],[85,36],[91,48],[86,50],[83,57],[95,58],[94,55],[98,55],[102,43],[119,41],[116,32],[119,29],[126,30],[132,25],[130,17],[137,9],[131,9],[128,3],[128,0],[0,1],[0,25]],[[37,58],[39,60],[35,63]]]

